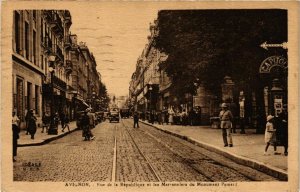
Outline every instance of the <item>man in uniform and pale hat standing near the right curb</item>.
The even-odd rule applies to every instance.
[[[233,147],[232,143],[232,136],[231,136],[231,128],[232,128],[232,113],[228,109],[228,105],[226,103],[222,103],[221,105],[222,110],[220,111],[219,117],[221,120],[221,129],[222,129],[222,136],[224,147]]]

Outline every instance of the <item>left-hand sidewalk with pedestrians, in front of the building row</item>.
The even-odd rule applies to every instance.
[[[70,132],[68,131],[67,128],[65,128],[64,132],[62,132],[61,125],[59,125],[57,135],[48,135],[48,133],[46,133],[46,130],[44,131],[44,133],[41,133],[42,128],[38,127],[34,135],[34,139],[31,139],[30,135],[26,135],[26,130],[21,130],[19,134],[20,138],[18,139],[18,147],[43,145],[55,139],[64,137],[65,135],[77,130],[76,121],[70,122],[69,127],[70,127]]]

